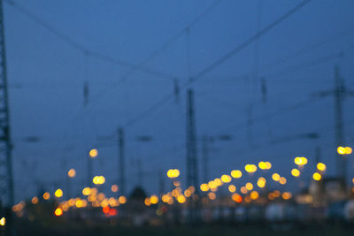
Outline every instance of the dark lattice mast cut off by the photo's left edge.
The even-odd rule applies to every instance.
[[[8,207],[6,220],[8,222],[9,235],[13,235],[12,210],[13,176],[12,176],[12,142],[10,133],[10,111],[8,103],[6,53],[4,36],[4,12],[3,0],[0,0],[0,202]]]

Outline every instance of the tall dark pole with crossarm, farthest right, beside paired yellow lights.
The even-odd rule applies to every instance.
[[[334,95],[335,98],[335,149],[344,145],[344,124],[342,119],[342,102],[346,96],[354,96],[354,91],[345,88],[344,81],[339,72],[339,66],[335,65],[335,88],[329,91],[317,93],[319,96]],[[345,185],[347,181],[347,159],[345,155],[336,154],[337,176],[343,179]]]

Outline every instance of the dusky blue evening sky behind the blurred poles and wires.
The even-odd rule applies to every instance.
[[[145,67],[172,74],[182,84],[189,78],[189,66],[192,76],[203,71],[300,2],[221,0],[190,27],[189,36],[181,34]],[[215,1],[15,3],[83,48],[138,65]],[[315,170],[316,145],[328,166],[327,174],[335,174],[334,99],[316,99],[312,93],[333,88],[335,64],[340,66],[348,89],[354,89],[352,12],[351,0],[313,0],[189,87],[195,89],[196,95],[197,136],[233,137],[232,141],[212,143],[211,178],[263,160],[272,162],[273,171],[289,178],[295,167],[293,158],[307,156],[310,163],[303,178],[308,181]],[[125,126],[173,93],[173,80],[139,71],[122,80],[130,67],[85,56],[82,50],[5,3],[4,22],[16,200],[35,195],[41,185],[50,191],[65,189],[70,168],[77,170],[73,181],[74,191],[79,193],[87,176],[89,148],[96,148],[99,137],[112,136],[118,126]],[[267,84],[266,103],[261,100],[260,77]],[[85,80],[89,81],[86,107]],[[144,171],[143,187],[150,194],[158,193],[158,170],[178,168],[184,182],[185,95],[183,89],[179,103],[171,100],[126,127],[128,190],[138,182],[137,159],[141,159]],[[346,144],[351,146],[353,99],[349,97],[343,103]],[[287,110],[302,101],[306,101],[304,105]],[[255,121],[249,130],[246,124],[250,104]],[[274,112],[276,115],[267,116]],[[313,132],[319,133],[318,141],[270,144],[273,139]],[[139,135],[150,135],[153,141],[138,142],[135,138]],[[28,136],[38,136],[41,141],[28,143],[24,141]],[[109,187],[118,176],[117,136],[100,143],[94,172],[103,174]],[[199,163],[200,157],[199,149]],[[348,168],[352,178],[352,156]],[[291,181],[285,189],[294,188]]]

